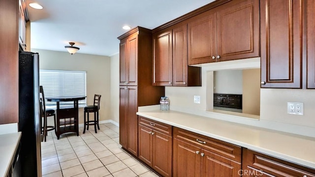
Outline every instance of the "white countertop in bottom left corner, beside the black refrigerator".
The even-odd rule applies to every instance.
[[[8,173],[20,139],[21,132],[0,135],[0,177],[5,177]]]

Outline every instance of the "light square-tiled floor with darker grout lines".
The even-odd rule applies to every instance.
[[[55,132],[48,132],[41,142],[42,177],[158,177],[127,154],[119,144],[119,127],[100,124],[79,136],[63,134],[57,140]]]

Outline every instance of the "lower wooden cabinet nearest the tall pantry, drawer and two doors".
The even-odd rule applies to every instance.
[[[172,126],[141,116],[138,121],[138,158],[163,177],[171,177]]]

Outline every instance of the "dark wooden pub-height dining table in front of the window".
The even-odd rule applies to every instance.
[[[48,102],[56,102],[56,136],[59,140],[60,135],[65,133],[76,133],[79,136],[79,100],[84,100],[86,96],[47,96]],[[60,102],[73,102],[71,107],[61,107]]]

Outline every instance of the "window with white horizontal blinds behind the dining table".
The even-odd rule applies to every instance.
[[[86,71],[39,70],[39,84],[45,98],[53,96],[86,96]],[[73,102],[60,102],[60,107],[72,107]],[[86,99],[79,100],[79,107]],[[57,108],[56,102],[47,102],[46,108]]]

